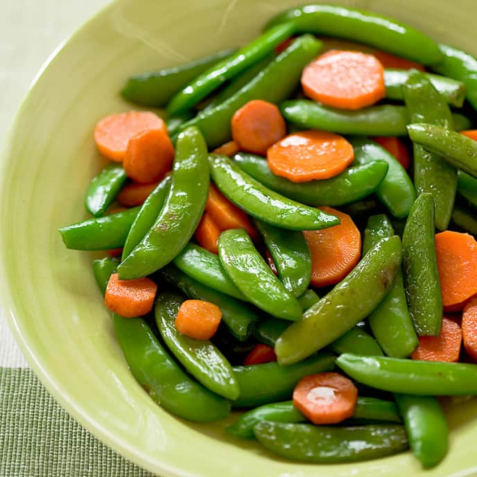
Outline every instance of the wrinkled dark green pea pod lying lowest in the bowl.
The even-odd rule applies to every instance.
[[[360,462],[408,449],[406,431],[399,424],[331,427],[261,421],[254,434],[272,453],[319,464]]]

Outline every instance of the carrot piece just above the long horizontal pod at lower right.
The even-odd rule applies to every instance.
[[[460,326],[444,316],[439,336],[419,336],[419,346],[410,357],[422,361],[459,361],[460,342]]]

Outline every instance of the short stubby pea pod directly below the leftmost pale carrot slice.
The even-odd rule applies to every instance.
[[[85,208],[95,217],[101,217],[110,207],[128,176],[120,164],[107,164],[89,183]]]

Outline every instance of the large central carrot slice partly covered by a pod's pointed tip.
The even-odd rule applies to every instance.
[[[340,225],[303,232],[311,252],[311,284],[333,285],[356,266],[361,257],[361,234],[352,218],[331,207],[320,210],[340,219]]]

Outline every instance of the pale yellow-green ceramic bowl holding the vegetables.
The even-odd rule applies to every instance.
[[[42,69],[1,159],[1,293],[15,336],[46,388],[78,422],[126,458],[166,476],[401,476],[410,453],[353,465],[302,465],[233,440],[225,423],[190,424],[156,406],[132,378],[103,306],[92,257],[66,250],[58,227],[85,217],[83,194],[104,164],[98,119],[130,108],[132,73],[244,44],[266,19],[302,1],[119,0],[73,35]],[[477,54],[477,3],[356,0]],[[160,286],[160,285],[159,285]],[[477,474],[477,403],[449,406],[451,448],[428,477]]]

